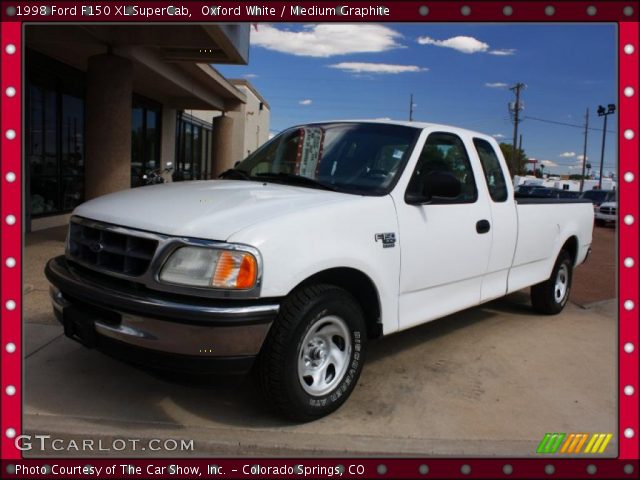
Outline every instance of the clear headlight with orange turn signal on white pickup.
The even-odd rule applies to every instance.
[[[256,258],[239,250],[180,247],[160,271],[162,282],[193,287],[247,290],[258,278]]]

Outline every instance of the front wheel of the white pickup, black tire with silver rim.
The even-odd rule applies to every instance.
[[[332,320],[326,323],[327,319]],[[305,346],[302,345],[308,335],[322,335],[325,328],[337,328],[331,322],[342,322],[342,327],[347,328],[343,329],[345,338],[338,334],[322,337],[331,338],[331,346],[325,348],[325,355],[329,356],[323,356],[322,352],[318,353],[317,349],[311,347],[313,340],[320,337],[314,336],[313,340],[308,338]],[[324,284],[295,290],[283,302],[258,359],[259,385],[265,399],[282,415],[296,421],[315,420],[337,410],[358,382],[364,363],[366,339],[362,309],[347,291]],[[320,343],[325,345],[322,341]],[[340,346],[343,350],[335,350],[340,350]],[[330,353],[327,353],[331,351],[342,355],[343,361],[331,365],[333,357],[330,358]],[[311,354],[305,355],[305,352]],[[305,363],[306,359],[311,363]],[[320,363],[318,368],[313,362]],[[300,369],[304,369],[305,365],[315,368],[316,372],[326,367],[324,378],[318,382],[315,377],[304,377],[303,380]],[[308,380],[311,384],[303,386],[302,382],[308,383]],[[319,388],[314,383],[333,388],[312,394],[308,391],[310,388]]]

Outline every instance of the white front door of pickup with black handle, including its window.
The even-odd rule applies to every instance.
[[[492,232],[489,202],[476,182],[481,169],[474,163],[458,135],[430,133],[406,190],[394,191],[401,249],[400,329],[480,302]],[[432,196],[424,204],[411,200],[412,194],[424,191],[428,196],[429,188],[435,190],[434,178],[457,181],[458,194]]]

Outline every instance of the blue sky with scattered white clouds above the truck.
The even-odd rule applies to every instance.
[[[545,172],[600,168],[604,117],[617,102],[615,24],[258,24],[249,64],[215,67],[245,78],[271,107],[277,133],[305,122],[413,119],[513,142],[509,88],[518,82],[522,148]],[[608,117],[605,176],[616,171],[617,113]],[[556,122],[556,123],[554,123]],[[565,125],[569,124],[569,125]]]

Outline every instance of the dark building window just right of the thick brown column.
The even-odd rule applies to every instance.
[[[160,168],[160,116],[162,107],[134,96],[131,112],[131,186],[144,185],[143,176]]]

